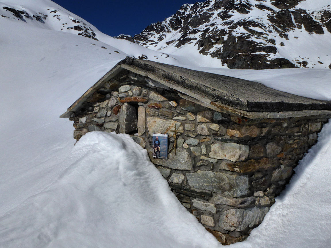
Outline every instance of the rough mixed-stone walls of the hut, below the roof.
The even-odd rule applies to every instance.
[[[108,82],[70,119],[76,140],[90,131],[130,134],[183,206],[223,244],[244,240],[262,222],[328,120],[221,113],[131,72]],[[177,149],[168,160],[153,158],[153,133],[167,133],[171,149],[175,129]]]

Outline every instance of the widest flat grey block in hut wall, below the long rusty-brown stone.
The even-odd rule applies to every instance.
[[[240,197],[249,193],[247,175],[233,175],[222,172],[198,171],[186,174],[189,186],[207,189],[216,193]]]

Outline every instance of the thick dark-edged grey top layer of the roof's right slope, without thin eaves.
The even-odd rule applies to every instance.
[[[254,81],[147,60],[126,58],[122,62],[241,110],[279,112],[331,109],[331,101],[289,94]]]

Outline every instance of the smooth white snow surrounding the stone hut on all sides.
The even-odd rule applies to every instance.
[[[1,17],[8,15],[2,6],[10,3],[34,11],[58,8],[51,1],[0,1],[1,248],[221,247],[129,136],[91,132],[74,145],[72,122],[59,118],[127,55],[148,54],[151,60],[331,100],[329,69],[236,71],[199,67],[189,54],[156,59],[158,52],[126,46],[127,41],[105,37],[104,43]],[[330,247],[330,161],[328,123],[262,224],[230,247]]]

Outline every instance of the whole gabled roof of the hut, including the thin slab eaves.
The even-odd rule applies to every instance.
[[[248,118],[296,116],[293,111],[301,111],[300,116],[330,114],[329,111],[323,110],[331,109],[331,101],[289,94],[254,81],[126,57],[87,90],[60,117],[69,118],[70,114],[76,111],[89,96],[123,70],[149,77],[188,95],[193,101],[196,99],[196,102],[202,101],[209,107],[217,106],[217,108],[227,109]],[[260,116],[258,113],[261,112],[264,114]],[[291,112],[291,114],[286,112]]]

